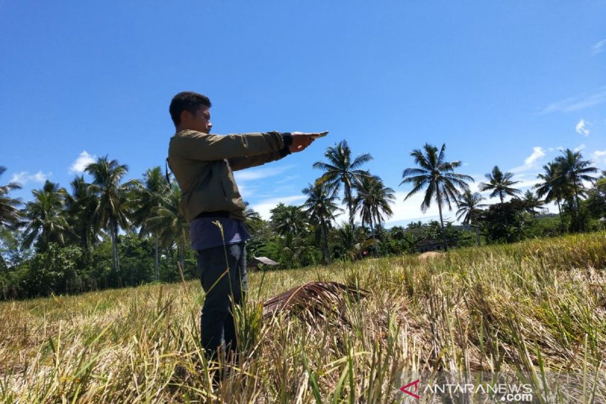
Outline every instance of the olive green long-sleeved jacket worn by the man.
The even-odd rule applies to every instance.
[[[244,221],[244,202],[233,171],[287,154],[290,152],[279,132],[225,136],[194,130],[176,133],[168,146],[168,165],[181,187],[179,210],[188,222],[202,212],[214,211],[227,211],[231,219]]]

